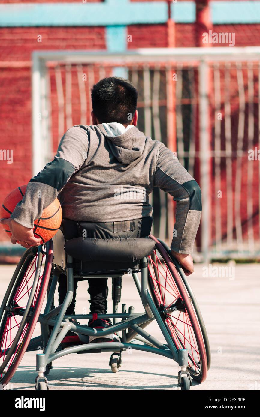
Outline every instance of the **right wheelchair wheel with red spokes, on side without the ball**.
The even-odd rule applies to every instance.
[[[187,349],[188,368],[193,379],[207,377],[207,355],[196,311],[187,288],[164,246],[156,242],[148,259],[148,282],[154,304],[177,350]]]

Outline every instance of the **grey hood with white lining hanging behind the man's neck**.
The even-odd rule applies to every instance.
[[[129,165],[143,153],[146,136],[135,126],[125,128],[121,123],[102,123],[97,127],[106,137],[111,152],[119,162]]]

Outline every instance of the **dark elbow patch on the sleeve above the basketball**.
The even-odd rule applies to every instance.
[[[66,159],[56,158],[47,163],[43,170],[33,177],[30,182],[47,184],[60,191],[74,172],[75,168],[72,163],[66,161]]]

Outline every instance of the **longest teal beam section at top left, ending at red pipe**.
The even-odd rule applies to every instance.
[[[108,26],[164,23],[167,3],[1,4],[0,26]]]

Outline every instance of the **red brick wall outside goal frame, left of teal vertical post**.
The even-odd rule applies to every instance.
[[[38,34],[42,35],[41,43],[37,42]],[[0,161],[0,201],[13,188],[28,183],[32,175],[30,60],[33,50],[105,48],[103,27],[0,28],[0,149],[13,149],[12,164]],[[0,240],[6,240],[2,228]]]

